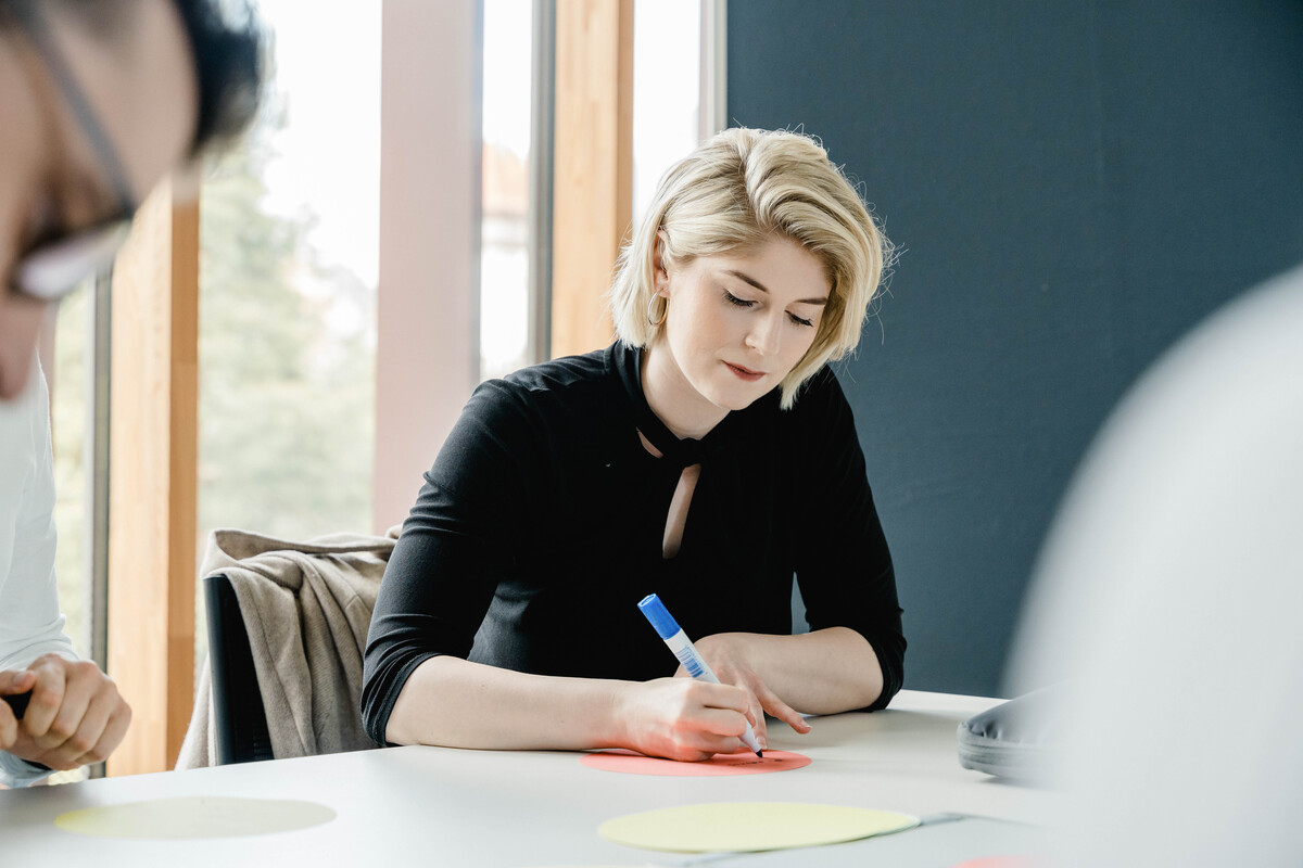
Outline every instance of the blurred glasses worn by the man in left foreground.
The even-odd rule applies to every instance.
[[[68,60],[52,38],[50,26],[40,14],[40,1],[20,0],[20,3],[13,4],[13,12],[50,70],[51,78],[77,118],[82,133],[95,150],[95,156],[108,176],[113,195],[117,198],[117,212],[108,220],[42,242],[26,251],[14,265],[12,292],[42,302],[56,302],[77,289],[91,275],[107,271],[113,264],[113,256],[126,241],[136,206],[132,186],[126,180],[121,160],[117,159],[117,151],[113,150],[104,126],[99,122],[81,87],[77,86],[77,78],[73,75]]]

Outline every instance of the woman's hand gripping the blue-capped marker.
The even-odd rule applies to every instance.
[[[616,720],[619,747],[671,760],[708,760],[743,750],[739,738],[752,726],[745,687],[688,678],[629,682]]]

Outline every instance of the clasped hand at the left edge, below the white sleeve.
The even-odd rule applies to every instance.
[[[0,694],[31,691],[21,721],[0,703],[0,747],[52,769],[99,763],[126,735],[132,709],[95,664],[43,655],[23,671],[0,673]],[[7,737],[10,733],[12,737]]]

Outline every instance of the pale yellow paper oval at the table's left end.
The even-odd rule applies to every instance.
[[[99,838],[235,838],[294,832],[334,819],[334,809],[314,802],[199,795],[69,811],[55,817],[55,825]]]

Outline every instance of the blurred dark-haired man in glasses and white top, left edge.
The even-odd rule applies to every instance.
[[[0,0],[0,783],[103,760],[130,722],[64,635],[36,333],[164,174],[251,120],[258,83],[251,17],[218,0]]]

